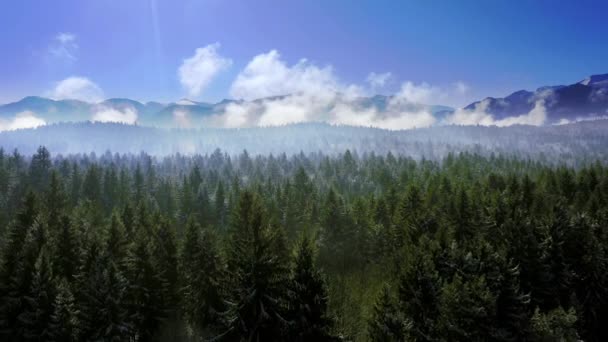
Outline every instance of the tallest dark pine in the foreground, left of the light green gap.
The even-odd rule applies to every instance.
[[[270,226],[257,195],[245,190],[233,212],[229,239],[231,270],[229,330],[224,336],[249,341],[282,340],[287,329],[288,285],[284,235]]]

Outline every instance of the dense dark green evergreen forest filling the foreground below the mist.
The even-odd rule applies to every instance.
[[[0,150],[2,341],[606,341],[608,167]]]

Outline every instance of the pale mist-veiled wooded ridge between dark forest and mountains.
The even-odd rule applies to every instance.
[[[578,167],[608,161],[608,120],[560,126],[434,126],[390,131],[371,127],[302,123],[243,129],[160,129],[118,123],[62,123],[0,132],[0,146],[31,155],[38,146],[55,154],[120,154],[145,151],[155,156],[212,154],[216,146],[230,156],[317,153],[336,156],[347,149],[360,154],[405,154],[440,161],[449,153],[492,153]]]

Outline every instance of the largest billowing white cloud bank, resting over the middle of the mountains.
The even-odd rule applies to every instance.
[[[387,129],[427,127],[436,122],[429,107],[436,88],[403,83],[382,110],[362,103],[392,77],[371,73],[369,87],[343,82],[331,66],[307,59],[289,65],[278,51],[259,54],[237,75],[230,87],[234,98],[223,112],[205,118],[213,127],[280,126],[300,122],[329,122]]]

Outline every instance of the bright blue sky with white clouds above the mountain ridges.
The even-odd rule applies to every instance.
[[[7,0],[0,103],[327,89],[464,106],[608,73],[605,1]]]

